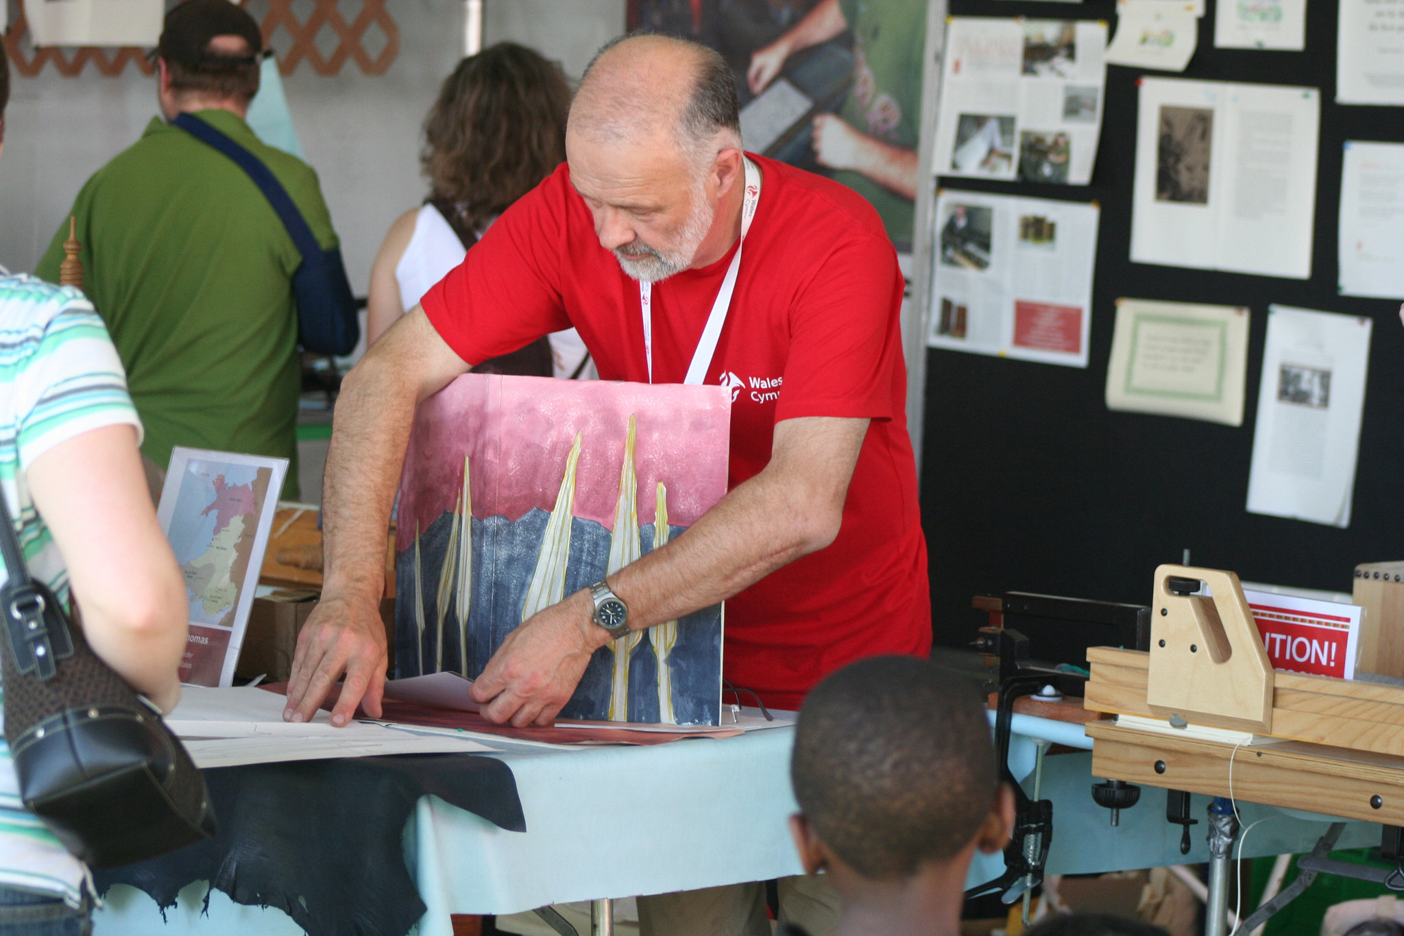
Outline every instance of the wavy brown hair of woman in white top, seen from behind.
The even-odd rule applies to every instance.
[[[482,230],[566,160],[570,86],[553,62],[500,42],[458,63],[424,121],[435,198]]]

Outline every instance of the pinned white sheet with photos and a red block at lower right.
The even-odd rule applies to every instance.
[[[1097,205],[942,189],[928,344],[1087,366]]]

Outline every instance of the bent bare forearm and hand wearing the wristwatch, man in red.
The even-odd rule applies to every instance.
[[[730,598],[838,536],[868,420],[804,417],[775,425],[771,460],[685,533],[609,577],[643,630]],[[590,655],[609,643],[578,591],[532,616],[503,641],[472,695],[491,721],[550,724]],[[542,665],[542,664],[546,665]]]

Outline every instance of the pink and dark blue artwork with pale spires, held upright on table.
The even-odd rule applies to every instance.
[[[396,523],[396,671],[476,678],[528,617],[726,494],[726,387],[469,373],[420,404]],[[723,608],[598,650],[564,718],[719,724]]]

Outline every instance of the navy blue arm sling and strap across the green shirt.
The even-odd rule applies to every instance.
[[[292,275],[292,295],[298,303],[298,344],[314,354],[350,354],[361,337],[361,328],[341,250],[322,250],[288,189],[257,156],[194,114],[177,114],[171,123],[215,147],[244,170],[288,229],[292,243],[302,254],[302,264]]]

